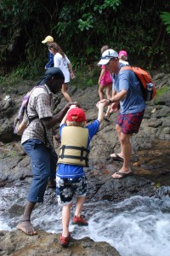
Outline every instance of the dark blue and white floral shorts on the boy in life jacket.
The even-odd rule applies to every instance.
[[[73,196],[82,197],[87,193],[86,177],[60,178],[56,177],[57,200],[59,205],[69,205]]]

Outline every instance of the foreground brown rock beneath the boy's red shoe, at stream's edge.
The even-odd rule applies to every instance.
[[[19,230],[0,231],[2,256],[119,256],[114,247],[106,242],[95,242],[88,237],[71,238],[69,247],[59,245],[59,235],[40,231],[37,236],[25,236]]]

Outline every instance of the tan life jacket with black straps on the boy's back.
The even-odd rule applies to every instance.
[[[88,129],[65,126],[61,131],[59,164],[88,166]]]

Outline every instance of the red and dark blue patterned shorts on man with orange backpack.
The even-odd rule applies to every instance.
[[[119,113],[116,119],[116,124],[121,126],[121,131],[124,134],[137,133],[143,117],[144,110],[138,113]]]

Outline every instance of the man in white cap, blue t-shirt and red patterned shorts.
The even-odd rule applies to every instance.
[[[112,111],[116,111],[120,103],[120,112],[116,119],[116,131],[121,143],[121,152],[111,154],[114,160],[123,161],[122,168],[112,175],[113,178],[118,179],[132,174],[130,169],[130,137],[139,131],[144,117],[145,102],[139,79],[131,70],[121,71],[121,67],[124,65],[119,62],[118,54],[114,49],[105,50],[98,65],[105,65],[113,80],[111,99],[100,102],[105,103],[105,106],[111,104]]]

